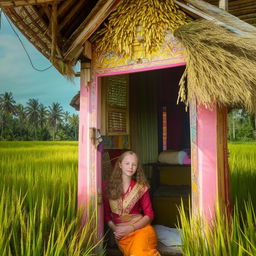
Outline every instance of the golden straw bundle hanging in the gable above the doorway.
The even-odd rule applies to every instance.
[[[97,50],[130,57],[134,42],[139,42],[150,53],[162,46],[167,31],[189,20],[173,0],[123,0],[98,32]]]

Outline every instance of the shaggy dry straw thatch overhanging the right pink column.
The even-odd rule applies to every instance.
[[[241,106],[256,112],[256,36],[241,36],[211,21],[183,25],[174,32],[186,50],[187,67],[179,99],[196,97],[212,103]]]

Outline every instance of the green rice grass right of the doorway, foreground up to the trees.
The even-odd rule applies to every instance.
[[[229,150],[232,216],[216,209],[215,221],[208,225],[182,206],[179,227],[186,256],[256,255],[256,143],[230,144]]]

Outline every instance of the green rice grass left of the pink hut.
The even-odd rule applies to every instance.
[[[0,255],[95,255],[79,229],[76,142],[0,142]]]

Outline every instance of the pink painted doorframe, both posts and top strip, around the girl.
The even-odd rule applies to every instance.
[[[99,236],[103,235],[103,207],[101,191],[101,153],[92,144],[89,129],[100,129],[100,78],[105,76],[144,72],[183,66],[184,61],[169,65],[129,68],[118,71],[93,70],[93,80],[86,86],[81,76],[79,124],[78,206],[86,208],[94,198]],[[82,75],[81,70],[81,75]],[[192,152],[192,208],[211,219],[218,200],[217,182],[217,109],[207,110],[196,101],[190,103],[190,130]],[[207,135],[208,134],[208,135]],[[86,210],[85,210],[86,211]],[[87,216],[85,214],[85,216]],[[85,218],[86,219],[86,218]]]

